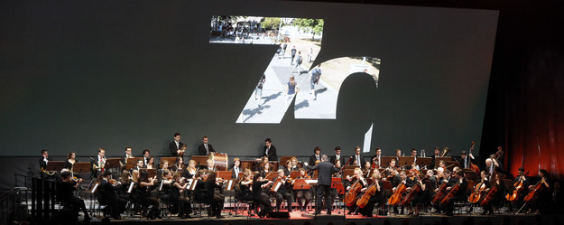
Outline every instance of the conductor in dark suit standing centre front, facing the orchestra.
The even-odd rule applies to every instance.
[[[310,166],[305,163],[305,166],[309,170],[318,170],[318,199],[315,202],[315,214],[321,213],[322,203],[321,200],[325,200],[325,207],[327,208],[327,214],[331,215],[331,176],[333,173],[337,173],[338,169],[335,165],[328,162],[327,155],[321,155],[321,162],[315,166]]]

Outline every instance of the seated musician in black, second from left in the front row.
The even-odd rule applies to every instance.
[[[125,205],[127,202],[116,196],[116,192],[120,190],[120,185],[110,183],[111,180],[111,172],[105,171],[102,173],[102,180],[100,181],[100,185],[98,187],[98,201],[100,204],[106,205],[106,209],[114,219],[120,220],[120,214],[125,211]]]

